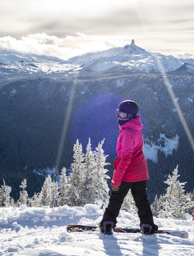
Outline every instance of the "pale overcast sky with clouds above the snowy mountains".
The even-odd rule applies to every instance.
[[[0,0],[0,54],[53,55],[135,44],[194,58],[193,0]]]

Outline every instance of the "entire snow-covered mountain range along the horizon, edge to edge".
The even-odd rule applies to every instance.
[[[187,63],[187,65],[185,65]],[[19,70],[63,73],[72,70],[89,69],[90,71],[103,71],[113,67],[139,69],[148,73],[164,73],[174,71],[183,65],[190,72],[194,71],[194,60],[177,59],[172,55],[165,56],[160,53],[150,53],[131,44],[124,47],[114,47],[100,52],[86,53],[73,57],[67,61],[55,57],[28,56],[20,57],[14,54],[0,55],[0,67]]]

